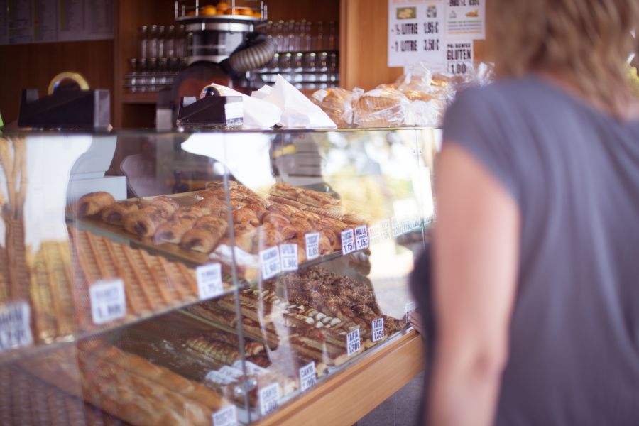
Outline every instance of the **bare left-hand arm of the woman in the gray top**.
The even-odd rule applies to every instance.
[[[505,187],[454,143],[439,155],[436,194],[429,425],[491,425],[508,359],[520,214]]]

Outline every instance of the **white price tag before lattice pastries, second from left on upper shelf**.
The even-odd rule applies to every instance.
[[[104,324],[126,315],[123,280],[99,280],[89,287],[89,297],[94,324]]]

